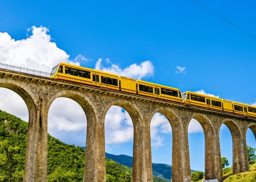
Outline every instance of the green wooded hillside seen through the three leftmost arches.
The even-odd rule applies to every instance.
[[[27,122],[0,110],[0,181],[23,181],[27,130]],[[82,147],[67,145],[48,134],[47,181],[83,181],[84,156]],[[131,168],[110,159],[106,159],[106,168],[108,181],[131,181]]]

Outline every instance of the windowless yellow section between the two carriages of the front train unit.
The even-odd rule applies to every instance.
[[[136,94],[136,80],[125,76],[119,76],[121,91]]]

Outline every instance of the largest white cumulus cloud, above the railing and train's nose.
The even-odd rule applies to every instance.
[[[14,40],[7,32],[0,32],[0,63],[25,67],[33,70],[50,72],[52,67],[60,62],[79,65],[78,56],[74,61],[69,55],[52,42],[46,27],[31,27],[27,29],[32,35],[22,40]]]

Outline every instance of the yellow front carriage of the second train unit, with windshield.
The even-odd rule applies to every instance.
[[[184,92],[181,95],[185,104],[207,107],[215,110],[223,110],[222,99],[220,98],[190,91]]]

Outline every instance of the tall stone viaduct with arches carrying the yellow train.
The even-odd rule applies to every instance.
[[[222,123],[226,124],[232,136],[233,173],[248,171],[246,131],[251,128],[256,136],[255,118],[55,80],[45,75],[34,75],[31,70],[27,73],[11,70],[0,68],[0,87],[20,95],[29,111],[25,182],[47,181],[48,110],[59,97],[73,99],[86,114],[84,182],[106,181],[104,120],[106,112],[114,105],[124,108],[133,121],[134,182],[153,182],[150,122],[156,112],[163,114],[172,127],[173,182],[191,181],[188,124],[192,118],[202,125],[204,131],[205,179],[223,179],[219,144]]]

